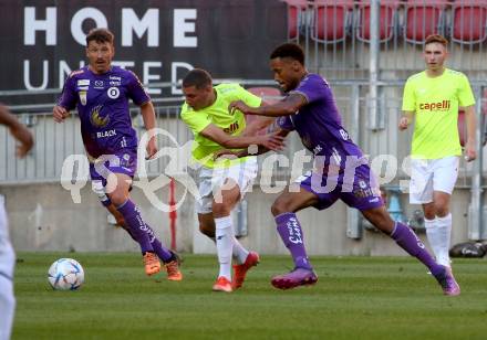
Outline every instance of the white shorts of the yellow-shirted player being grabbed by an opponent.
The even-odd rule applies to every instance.
[[[257,177],[257,159],[255,157],[249,158],[242,163],[225,169],[203,167],[198,176],[200,200],[196,201],[197,213],[208,214],[213,211],[214,196],[219,192],[226,179],[232,179],[238,184],[240,199],[242,199],[245,193],[252,188],[253,180]]]

